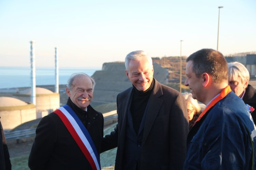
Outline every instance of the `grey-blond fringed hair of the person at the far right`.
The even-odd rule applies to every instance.
[[[246,67],[244,67],[243,64],[239,62],[228,63],[228,80],[237,81],[238,77],[242,79],[242,83],[249,82],[250,80],[249,71],[246,69]]]

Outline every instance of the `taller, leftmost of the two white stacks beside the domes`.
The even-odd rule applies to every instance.
[[[31,103],[35,103],[35,50],[34,42],[30,41],[30,78],[31,78]]]

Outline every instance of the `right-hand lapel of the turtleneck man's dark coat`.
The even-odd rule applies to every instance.
[[[146,138],[148,134],[150,133],[150,130],[154,124],[154,121],[157,117],[157,114],[159,112],[159,109],[162,106],[163,101],[159,99],[160,96],[163,95],[161,84],[154,79],[154,88],[153,92],[150,95],[149,103],[148,103],[148,109],[146,113],[146,120],[144,125],[144,132],[143,132],[143,138],[142,138],[142,145],[145,143]]]

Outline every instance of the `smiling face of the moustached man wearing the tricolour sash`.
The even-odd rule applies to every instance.
[[[77,107],[85,110],[93,100],[93,83],[89,77],[82,75],[73,80],[71,90],[66,88],[66,92]]]

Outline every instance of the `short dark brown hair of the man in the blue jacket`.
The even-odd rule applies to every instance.
[[[205,72],[211,75],[215,83],[228,80],[228,64],[223,54],[219,51],[201,49],[191,54],[186,61],[193,62],[192,70],[197,77],[200,77]]]

